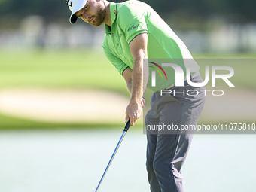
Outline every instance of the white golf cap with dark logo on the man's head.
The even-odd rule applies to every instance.
[[[71,16],[69,17],[69,22],[74,24],[78,20],[75,13],[81,10],[81,8],[84,8],[84,5],[87,4],[87,0],[66,0],[66,4],[72,12]]]

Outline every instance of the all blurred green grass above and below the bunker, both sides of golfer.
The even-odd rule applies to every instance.
[[[230,81],[236,87],[256,90],[254,54],[194,54],[199,59],[204,78],[205,66],[231,66],[235,75]],[[218,58],[219,60],[216,60]],[[227,63],[227,59],[234,59]],[[225,60],[226,59],[226,60]],[[218,61],[216,63],[216,61]],[[247,61],[245,63],[245,61]],[[211,72],[211,71],[210,71]],[[211,82],[211,81],[209,81]],[[223,87],[221,80],[217,84]],[[2,50],[0,56],[0,91],[5,88],[43,87],[50,89],[112,90],[129,96],[117,69],[102,50]],[[43,123],[0,114],[0,129],[92,127],[100,124]],[[114,126],[114,125],[110,125]]]

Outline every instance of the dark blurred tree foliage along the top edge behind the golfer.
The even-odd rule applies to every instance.
[[[250,23],[256,20],[254,0],[143,0],[143,2],[151,5],[165,20],[172,20],[174,23],[186,23],[186,20],[187,23],[190,21],[202,23],[212,17],[220,17],[235,23]],[[0,0],[1,26],[15,26],[20,19],[29,15],[42,16],[47,23],[60,20],[66,22],[69,11],[65,0]]]

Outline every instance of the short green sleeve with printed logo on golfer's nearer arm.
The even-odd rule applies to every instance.
[[[145,16],[148,14],[139,6],[124,5],[118,12],[118,24],[123,30],[126,41],[130,44],[137,35],[148,32]]]

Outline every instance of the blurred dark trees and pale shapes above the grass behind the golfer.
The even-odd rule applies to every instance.
[[[256,50],[253,0],[144,2],[163,17],[192,52]],[[75,26],[69,24],[70,13],[64,0],[1,0],[0,5],[2,49],[92,48],[102,44],[102,26],[96,28],[82,20]]]

